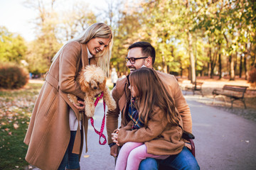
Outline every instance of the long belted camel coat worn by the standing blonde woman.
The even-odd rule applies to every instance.
[[[86,45],[69,42],[50,67],[33,108],[24,139],[28,145],[25,159],[29,164],[40,169],[58,169],[70,141],[69,109],[72,108],[79,118],[79,111],[69,101],[68,94],[85,97],[75,79],[80,69],[85,68],[87,64],[89,60]],[[95,58],[90,59],[90,64],[96,64]],[[86,117],[82,118],[86,140],[87,122]],[[83,144],[81,134],[83,132],[76,133],[73,148],[73,153],[80,155]]]

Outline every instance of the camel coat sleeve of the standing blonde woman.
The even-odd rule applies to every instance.
[[[59,86],[60,90],[67,94],[85,98],[85,94],[80,89],[80,84],[75,81],[78,76],[76,73],[78,72],[80,57],[81,45],[79,42],[70,42],[65,45],[60,54]]]

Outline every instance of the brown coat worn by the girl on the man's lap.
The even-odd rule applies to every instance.
[[[170,125],[160,108],[154,107],[152,115],[146,127],[132,130],[132,121],[130,121],[124,128],[119,129],[117,139],[119,145],[124,145],[126,142],[144,142],[149,154],[179,154],[184,147],[181,116],[179,115],[179,125]]]

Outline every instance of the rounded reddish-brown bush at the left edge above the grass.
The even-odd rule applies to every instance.
[[[0,88],[20,89],[28,83],[28,72],[14,64],[0,65]]]

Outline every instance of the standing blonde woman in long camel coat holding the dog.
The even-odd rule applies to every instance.
[[[79,111],[85,108],[83,102],[80,101],[80,107],[73,105],[68,94],[85,98],[75,79],[88,64],[97,64],[108,76],[112,42],[111,28],[105,23],[94,23],[53,57],[24,139],[28,145],[28,163],[47,170],[80,169],[88,121],[86,116],[78,119]]]

